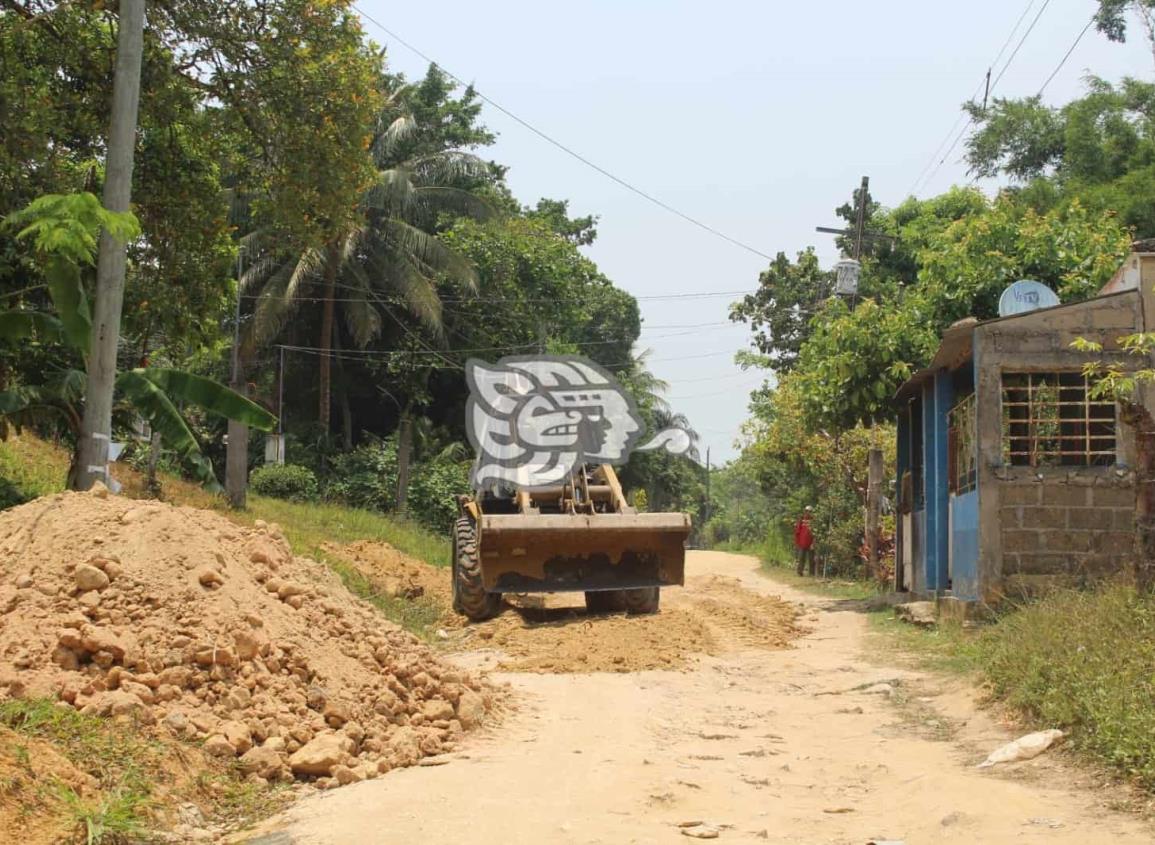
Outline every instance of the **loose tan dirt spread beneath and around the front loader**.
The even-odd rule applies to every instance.
[[[581,593],[560,593],[508,596],[497,619],[469,623],[452,611],[447,569],[382,543],[328,551],[390,596],[433,601],[442,612],[447,648],[492,652],[490,664],[502,671],[681,670],[701,655],[785,648],[800,634],[791,605],[716,575],[693,577],[686,590],[664,590],[662,612],[650,616],[591,616]]]

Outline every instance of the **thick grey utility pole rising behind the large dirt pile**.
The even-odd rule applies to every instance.
[[[120,0],[117,68],[112,80],[112,117],[105,156],[104,207],[127,211],[133,188],[136,111],[141,92],[141,53],[144,40],[144,0]],[[88,353],[84,421],[79,444],[76,489],[97,479],[109,480],[109,442],[112,436],[112,392],[117,380],[117,344],[125,299],[125,244],[100,233],[96,268],[92,341]]]

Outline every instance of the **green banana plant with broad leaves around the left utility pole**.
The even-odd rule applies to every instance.
[[[83,361],[92,321],[81,267],[95,259],[94,230],[116,227],[116,232],[131,237],[135,219],[126,220],[105,211],[91,194],[72,194],[40,197],[12,215],[7,223],[23,226],[17,239],[35,239],[54,313],[0,312],[0,344],[28,341],[58,344],[72,352],[68,356],[72,360]],[[84,369],[66,365],[39,384],[0,390],[0,439],[8,436],[9,427],[18,431],[24,425],[58,417],[79,441],[87,381]],[[193,405],[263,432],[276,426],[276,417],[251,399],[213,379],[180,369],[124,371],[117,376],[116,396],[117,410],[147,421],[161,434],[165,448],[176,453],[191,474],[210,489],[219,489],[221,485],[178,404]],[[75,471],[75,455],[73,464]]]

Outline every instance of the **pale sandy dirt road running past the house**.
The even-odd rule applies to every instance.
[[[755,604],[798,603],[808,633],[773,651],[735,637],[683,671],[501,674],[517,710],[447,764],[318,793],[252,842],[656,844],[686,842],[685,822],[730,843],[1153,840],[1059,755],[976,770],[1013,736],[956,682],[863,659],[857,610],[774,584],[750,558],[687,564],[671,610],[708,623],[695,591],[730,581]]]

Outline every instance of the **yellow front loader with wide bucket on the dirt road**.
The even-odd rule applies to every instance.
[[[579,466],[565,484],[460,496],[453,534],[453,605],[472,620],[502,593],[584,592],[601,613],[655,613],[658,590],[685,581],[688,514],[639,514],[609,464]]]

